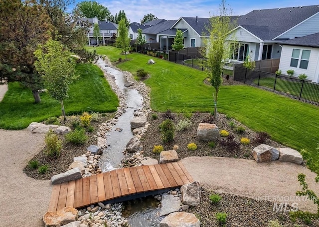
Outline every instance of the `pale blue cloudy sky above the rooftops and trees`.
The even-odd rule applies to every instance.
[[[140,22],[148,13],[166,20],[178,19],[181,16],[209,17],[209,12],[215,13],[221,0],[97,0],[97,2],[107,6],[113,15],[124,10],[131,22]],[[232,15],[243,15],[254,9],[319,5],[318,0],[226,0],[226,3],[231,6]]]

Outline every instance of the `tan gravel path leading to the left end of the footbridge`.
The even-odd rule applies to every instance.
[[[22,171],[43,147],[44,134],[0,129],[0,226],[44,226],[51,183],[34,180]]]

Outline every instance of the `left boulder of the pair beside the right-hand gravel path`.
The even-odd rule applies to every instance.
[[[266,144],[254,148],[252,154],[257,162],[275,161],[279,158],[279,151]]]

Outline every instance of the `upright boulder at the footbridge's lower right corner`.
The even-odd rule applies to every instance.
[[[180,187],[181,201],[184,205],[196,206],[200,203],[201,186],[198,181]]]

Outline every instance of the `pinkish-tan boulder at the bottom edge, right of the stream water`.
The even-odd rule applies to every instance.
[[[200,227],[200,221],[194,214],[175,212],[161,220],[160,227]]]

